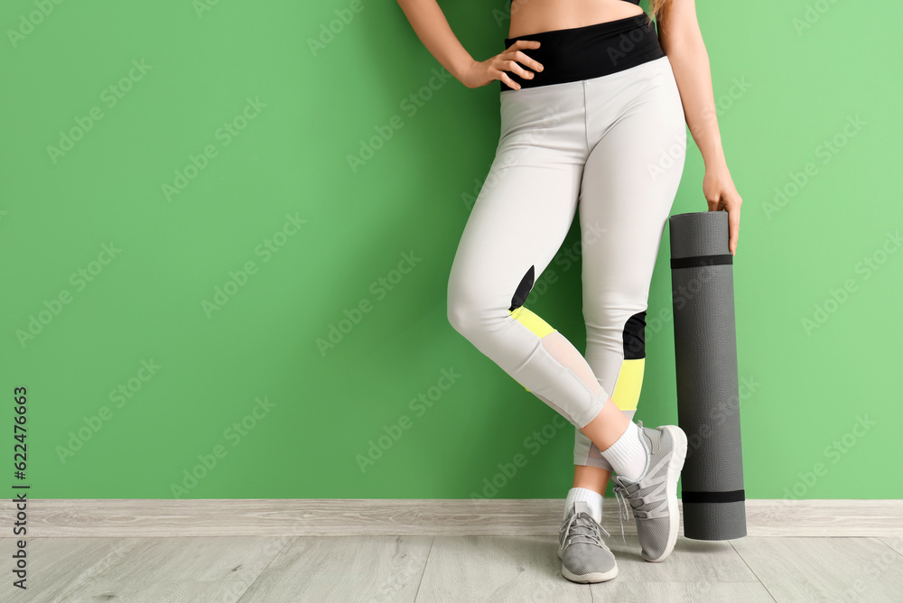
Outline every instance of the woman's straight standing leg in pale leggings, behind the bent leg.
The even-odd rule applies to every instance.
[[[684,111],[667,57],[589,80],[586,93],[595,144],[578,211],[582,231],[605,232],[583,246],[586,361],[627,422],[643,382],[649,283],[684,169]],[[575,487],[605,492],[611,466],[581,430],[574,465]]]

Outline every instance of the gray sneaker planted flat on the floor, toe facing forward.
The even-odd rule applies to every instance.
[[[601,533],[610,536],[592,517],[590,506],[574,501],[558,530],[558,558],[562,575],[573,582],[604,582],[618,575],[618,563]]]

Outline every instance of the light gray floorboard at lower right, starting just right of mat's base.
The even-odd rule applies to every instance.
[[[903,600],[903,556],[878,538],[743,538],[732,546],[784,601]]]

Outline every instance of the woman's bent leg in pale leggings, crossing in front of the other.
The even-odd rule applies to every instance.
[[[609,396],[581,353],[524,306],[576,212],[587,151],[582,83],[503,91],[500,111],[496,157],[452,263],[448,318],[582,428]]]

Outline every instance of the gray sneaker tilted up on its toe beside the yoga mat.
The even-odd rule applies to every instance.
[[[611,477],[615,499],[619,501],[621,537],[624,537],[623,521],[629,519],[629,502],[637,520],[640,554],[646,561],[664,561],[674,551],[680,528],[677,480],[684,468],[686,434],[677,425],[663,425],[658,429],[643,427],[642,421],[637,425],[639,440],[648,453],[646,470],[636,481]]]

